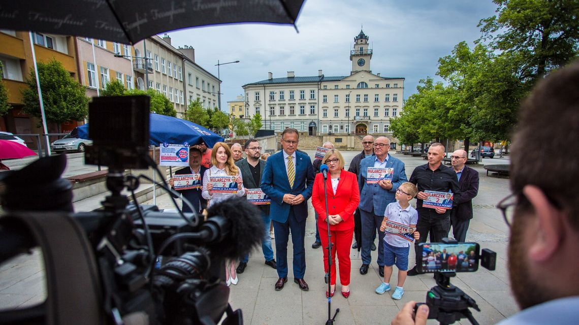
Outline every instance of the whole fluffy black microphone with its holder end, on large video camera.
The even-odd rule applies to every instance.
[[[239,197],[211,205],[201,225],[211,255],[230,259],[250,253],[261,244],[264,232],[261,210]]]

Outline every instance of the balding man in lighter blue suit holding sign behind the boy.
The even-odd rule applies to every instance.
[[[400,184],[407,181],[404,163],[389,155],[390,140],[387,137],[378,137],[374,141],[374,156],[362,159],[358,187],[360,188],[360,218],[362,221],[362,266],[360,274],[368,273],[368,266],[372,261],[370,255],[373,229],[378,230],[378,272],[384,277],[384,232],[380,225],[384,220],[384,210],[390,203],[395,202],[395,195]],[[392,181],[382,180],[378,184],[367,184],[368,167],[393,168]]]

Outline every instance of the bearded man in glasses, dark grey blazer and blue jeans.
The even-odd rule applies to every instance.
[[[259,142],[255,139],[250,139],[245,142],[245,156],[247,158],[241,159],[235,163],[241,170],[241,177],[243,178],[243,185],[247,189],[259,188],[261,183],[261,176],[265,169],[265,161],[259,159],[261,156],[261,147]],[[258,205],[261,210],[261,217],[263,220],[263,234],[261,240],[261,249],[263,250],[263,257],[265,264],[272,268],[277,268],[276,260],[273,258],[272,238],[269,235],[269,224],[272,220],[269,217],[269,205]],[[247,267],[247,261],[250,255],[245,255],[237,266],[237,273],[243,273]]]

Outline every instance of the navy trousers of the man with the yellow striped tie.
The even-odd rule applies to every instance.
[[[277,275],[286,277],[288,275],[288,240],[294,245],[294,277],[303,279],[306,273],[306,249],[304,236],[306,234],[306,220],[298,222],[295,218],[294,208],[290,209],[290,216],[285,222],[273,221],[273,229],[276,232],[276,257]]]

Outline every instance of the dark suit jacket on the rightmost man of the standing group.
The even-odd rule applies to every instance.
[[[450,217],[459,220],[472,219],[472,199],[478,194],[478,171],[464,166],[459,180],[460,196],[452,202]]]

